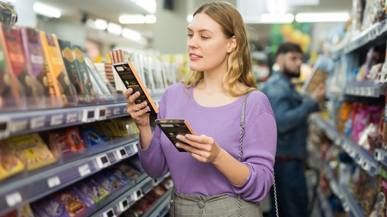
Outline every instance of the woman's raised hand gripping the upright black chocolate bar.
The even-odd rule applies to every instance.
[[[133,89],[129,88],[124,93],[124,97],[127,98],[127,111],[130,114],[130,116],[134,119],[134,121],[137,123],[138,128],[147,127],[149,126],[149,113],[146,113],[149,111],[149,107],[146,101],[142,102],[141,104],[135,104],[135,100],[140,96],[140,92],[135,92],[132,94]]]

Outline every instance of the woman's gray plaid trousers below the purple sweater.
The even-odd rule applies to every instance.
[[[238,198],[221,194],[215,196],[187,195],[173,189],[170,217],[238,217]],[[262,217],[259,202],[241,198],[242,217]]]

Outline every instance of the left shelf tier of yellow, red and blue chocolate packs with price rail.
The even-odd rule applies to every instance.
[[[137,152],[131,118],[83,124],[0,141],[0,215]]]

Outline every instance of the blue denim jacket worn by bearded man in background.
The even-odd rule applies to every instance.
[[[273,72],[262,92],[270,101],[277,123],[276,157],[305,160],[307,118],[310,113],[320,110],[317,102],[311,97],[303,99],[280,72]]]

